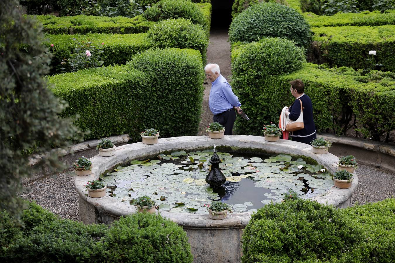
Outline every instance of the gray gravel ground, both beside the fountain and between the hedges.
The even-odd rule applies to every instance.
[[[230,78],[230,44],[227,30],[210,32],[210,43],[207,48],[207,62],[220,65],[221,73]],[[203,112],[199,125],[199,135],[205,134],[205,128],[213,120],[208,107],[211,84],[205,85]],[[358,168],[359,184],[352,197],[352,205],[356,202],[365,204],[377,202],[395,195],[395,174],[360,165]],[[24,184],[26,192],[21,196],[36,202],[61,218],[78,220],[78,194],[73,179],[68,172],[50,177],[43,177]]]

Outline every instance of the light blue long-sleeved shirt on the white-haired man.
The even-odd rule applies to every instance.
[[[233,93],[226,78],[219,75],[211,84],[209,107],[213,114],[220,114],[234,107],[240,107],[240,101]]]

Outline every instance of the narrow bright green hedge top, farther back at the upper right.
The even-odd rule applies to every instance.
[[[332,16],[316,15],[314,13],[303,14],[306,21],[312,27],[321,26],[382,26],[395,24],[395,10],[364,11],[361,13],[337,13]]]

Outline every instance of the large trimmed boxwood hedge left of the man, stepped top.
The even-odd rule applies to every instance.
[[[90,130],[86,140],[126,133],[137,142],[147,127],[159,129],[163,137],[198,132],[204,71],[197,50],[147,50],[127,65],[48,80],[69,105],[60,117],[81,116],[74,124]]]

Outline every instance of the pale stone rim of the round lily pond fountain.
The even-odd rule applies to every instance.
[[[86,196],[85,184],[87,181],[98,179],[102,173],[107,173],[115,166],[130,162],[137,157],[144,155],[156,155],[164,151],[172,151],[176,149],[193,150],[202,147],[212,147],[214,144],[217,147],[231,146],[241,149],[262,149],[266,153],[278,154],[288,153],[294,156],[303,155],[314,159],[319,164],[322,164],[330,173],[335,173],[337,170],[338,158],[331,153],[318,155],[312,153],[312,147],[307,144],[293,142],[290,140],[278,140],[276,142],[267,142],[262,136],[251,135],[228,135],[221,139],[210,139],[208,136],[181,136],[172,138],[162,138],[158,140],[157,144],[147,145],[142,142],[134,144],[126,144],[116,148],[116,154],[110,157],[102,157],[96,155],[90,160],[93,163],[92,174],[87,176],[73,175],[74,185],[79,196],[93,205],[98,211],[107,213],[108,215],[119,218],[133,213],[137,213],[137,207],[130,205],[128,202],[120,202],[117,199],[108,195],[102,198],[90,198]],[[292,153],[291,153],[292,151]],[[327,192],[311,198],[319,203],[327,203],[328,205],[339,206],[346,200],[351,198],[352,193],[357,187],[358,176],[354,173],[354,181],[352,187],[348,189],[339,189],[332,187]],[[248,224],[253,212],[237,213],[229,215],[224,220],[209,219],[207,214],[192,214],[192,213],[171,213],[168,211],[161,211],[160,214],[169,218],[177,224],[186,228],[244,228]]]

